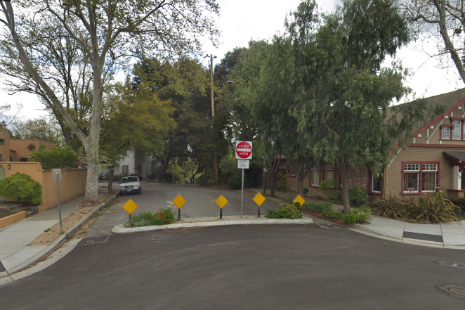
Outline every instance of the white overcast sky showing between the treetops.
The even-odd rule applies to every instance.
[[[270,39],[273,34],[284,30],[284,18],[293,11],[300,0],[217,0],[221,7],[221,15],[217,20],[222,32],[218,48],[211,45],[207,38],[204,42],[204,52],[217,56],[214,63],[218,63],[228,51],[235,47],[247,46],[251,39]],[[339,0],[317,0],[320,11],[334,11]],[[464,87],[454,67],[449,70],[438,68],[439,60],[430,58],[425,51],[433,53],[434,46],[428,44],[410,44],[402,48],[397,59],[404,67],[410,68],[412,77],[407,80],[417,97],[435,96]],[[205,61],[207,65],[207,61]],[[0,81],[0,88],[3,84]],[[25,118],[35,118],[46,115],[41,111],[42,105],[36,96],[22,94],[8,96],[0,90],[0,104],[21,103],[23,108],[20,115]]]

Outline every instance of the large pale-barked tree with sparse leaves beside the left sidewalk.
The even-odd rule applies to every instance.
[[[119,60],[133,53],[182,53],[198,49],[198,34],[215,37],[214,22],[210,13],[218,14],[215,1],[195,0],[142,0],[127,1],[16,1],[18,10],[13,12],[11,2],[0,2],[6,26],[2,44],[11,46],[17,53],[24,70],[45,94],[67,126],[84,145],[88,162],[86,195],[81,206],[98,203],[98,143],[103,115],[105,67],[116,70]],[[19,8],[22,6],[22,9]],[[204,15],[205,13],[205,15]],[[53,25],[48,25],[48,21]],[[65,107],[63,97],[56,93],[53,79],[46,79],[44,72],[49,63],[37,57],[25,42],[34,36],[35,44],[48,44],[53,32],[42,32],[54,27],[63,44],[77,46],[82,63],[91,72],[91,109],[89,131],[79,128]],[[64,37],[61,37],[63,36]],[[59,51],[63,51],[62,48]],[[60,77],[56,77],[60,79]]]

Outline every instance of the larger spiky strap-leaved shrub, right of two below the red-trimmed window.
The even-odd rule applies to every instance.
[[[414,221],[430,221],[432,223],[458,221],[459,209],[442,193],[424,194],[417,202],[410,205],[410,218]]]

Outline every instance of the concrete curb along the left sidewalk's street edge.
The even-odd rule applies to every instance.
[[[87,214],[83,219],[81,219],[81,221],[79,221],[77,224],[72,226],[72,228],[70,228],[66,233],[63,233],[63,235],[61,235],[58,239],[53,241],[53,243],[51,245],[48,245],[48,247],[46,247],[44,250],[39,252],[35,257],[32,257],[31,259],[25,261],[24,263],[20,264],[19,266],[16,266],[13,269],[10,269],[9,271],[6,271],[7,274],[5,276],[9,276],[9,275],[11,275],[11,273],[15,273],[15,272],[18,272],[18,271],[20,271],[22,269],[25,269],[25,268],[29,267],[29,266],[32,266],[32,265],[36,264],[37,261],[40,261],[41,259],[44,259],[45,257],[48,257],[49,254],[51,254],[53,251],[58,249],[58,247],[63,245],[63,243],[65,243],[65,241],[67,240],[66,239],[67,235],[70,235],[72,237],[75,233],[77,233],[77,231],[79,231],[79,228],[84,226],[84,224],[86,224],[89,221],[89,219],[91,219],[93,217],[93,215],[96,214],[96,212],[98,212],[101,209],[103,209],[104,207],[106,207],[106,205],[108,205],[116,197],[116,195],[117,195],[117,193],[112,195],[105,202],[103,202],[100,205],[98,205],[97,207],[95,207],[91,212],[89,212],[89,214]]]

